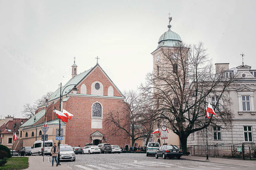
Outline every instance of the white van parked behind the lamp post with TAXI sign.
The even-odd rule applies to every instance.
[[[44,142],[44,155],[51,154],[51,148],[53,147],[53,140],[47,140],[47,141],[37,140],[34,142],[34,145],[31,147],[31,156],[42,155],[43,142]]]

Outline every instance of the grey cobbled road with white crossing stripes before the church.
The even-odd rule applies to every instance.
[[[255,170],[255,168],[243,166],[192,161],[186,159],[156,159],[154,156],[147,157],[146,154],[143,153],[78,154],[76,155],[76,161],[62,161],[61,164],[67,165],[73,170]]]

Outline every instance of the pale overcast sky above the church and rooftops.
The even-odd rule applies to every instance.
[[[0,116],[99,64],[117,87],[136,89],[152,71],[158,39],[171,30],[202,41],[214,63],[255,64],[255,1],[0,1]]]

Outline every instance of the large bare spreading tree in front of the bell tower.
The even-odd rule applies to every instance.
[[[166,126],[179,136],[186,153],[191,133],[213,124],[221,124],[224,129],[231,126],[233,112],[228,93],[235,88],[236,80],[236,75],[225,78],[223,68],[214,69],[202,43],[177,43],[174,48],[162,48],[154,73],[147,75],[141,89],[145,100],[152,101],[154,120],[165,120]],[[212,97],[218,117],[211,115],[205,123],[205,104],[212,104]]]

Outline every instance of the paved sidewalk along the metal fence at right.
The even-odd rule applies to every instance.
[[[239,160],[239,159],[226,159],[226,158],[212,158],[209,157],[209,161],[206,161],[206,156],[182,156],[183,159],[194,160],[194,161],[204,161],[213,163],[222,163],[228,165],[245,166],[245,167],[256,167],[256,161],[250,160]]]

